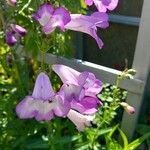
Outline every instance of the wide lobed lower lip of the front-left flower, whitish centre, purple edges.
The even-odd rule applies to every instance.
[[[51,101],[42,101],[27,96],[16,107],[19,118],[35,118],[37,121],[51,120],[54,116],[65,117],[69,110],[70,103],[60,95],[56,95]]]

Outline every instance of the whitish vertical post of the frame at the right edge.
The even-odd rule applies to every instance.
[[[139,27],[139,33],[137,38],[137,45],[134,55],[133,67],[137,74],[136,79],[144,81],[146,85],[146,80],[150,67],[150,0],[144,0],[141,22]],[[129,35],[130,36],[130,35]],[[136,113],[133,116],[129,116],[124,112],[122,120],[122,129],[127,134],[128,138],[131,140],[136,124],[138,121],[138,116],[140,113],[141,104],[144,96],[137,95],[136,93],[129,93],[127,103],[135,105]]]

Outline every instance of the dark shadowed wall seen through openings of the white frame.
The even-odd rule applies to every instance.
[[[143,0],[120,0],[113,14],[140,17]],[[93,8],[92,8],[93,9]],[[125,59],[128,67],[132,67],[138,27],[110,22],[107,30],[99,30],[99,36],[104,41],[104,47],[99,50],[91,37],[83,37],[83,60],[107,67],[123,70]]]

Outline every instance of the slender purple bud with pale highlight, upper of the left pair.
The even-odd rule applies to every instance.
[[[11,26],[12,30],[20,36],[25,36],[27,33],[25,28],[23,28],[17,24],[11,24],[10,26]]]

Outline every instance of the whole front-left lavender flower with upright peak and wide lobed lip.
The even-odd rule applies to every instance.
[[[45,73],[38,75],[32,95],[26,96],[16,107],[19,118],[38,121],[51,120],[55,115],[65,117],[69,110],[70,103],[64,99],[63,91],[55,94]]]

